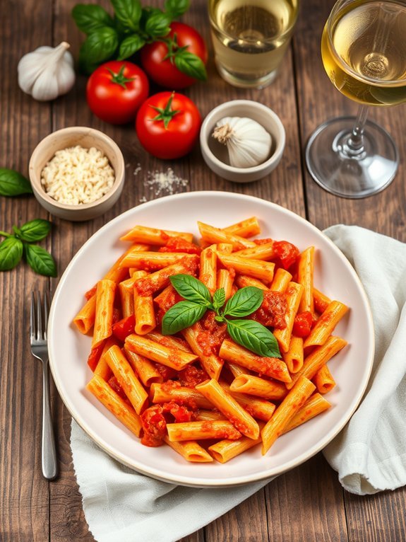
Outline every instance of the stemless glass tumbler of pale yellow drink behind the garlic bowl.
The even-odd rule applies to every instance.
[[[241,86],[270,82],[289,45],[298,0],[209,0],[220,74]]]

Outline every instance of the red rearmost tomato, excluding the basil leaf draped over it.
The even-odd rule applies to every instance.
[[[207,62],[208,52],[203,38],[194,28],[184,23],[171,23],[166,38],[142,48],[143,69],[158,85],[179,89],[196,82],[196,79],[182,73],[175,65],[174,57],[180,47],[187,47],[186,51],[196,54],[203,64]]]

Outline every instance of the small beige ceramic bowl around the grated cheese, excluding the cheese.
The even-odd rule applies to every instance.
[[[76,145],[85,149],[95,147],[105,154],[114,169],[115,180],[111,190],[100,200],[70,205],[47,195],[41,185],[41,172],[56,151]],[[75,126],[57,130],[37,144],[30,158],[29,173],[34,195],[44,209],[61,219],[81,221],[99,217],[117,202],[124,186],[125,164],[119,146],[110,137],[93,128]]]

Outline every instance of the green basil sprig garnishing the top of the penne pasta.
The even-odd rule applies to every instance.
[[[165,313],[162,318],[163,335],[173,335],[189,328],[210,309],[215,311],[217,322],[227,324],[229,336],[239,345],[260,356],[280,357],[277,340],[268,328],[253,320],[235,319],[249,316],[259,309],[263,301],[262,290],[253,286],[241,288],[225,304],[224,288],[217,289],[212,298],[208,287],[191,275],[174,275],[170,281],[185,301],[179,301]]]

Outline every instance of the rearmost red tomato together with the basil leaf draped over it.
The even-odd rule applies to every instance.
[[[171,23],[165,38],[144,45],[141,63],[150,79],[167,88],[186,88],[207,78],[208,52],[197,30],[184,23]]]

